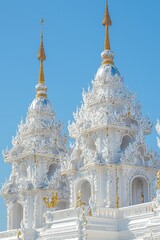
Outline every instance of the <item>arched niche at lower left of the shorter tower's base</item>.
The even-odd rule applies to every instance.
[[[23,219],[23,207],[20,203],[15,203],[12,207],[12,227],[13,229],[18,229],[21,226],[21,221]]]

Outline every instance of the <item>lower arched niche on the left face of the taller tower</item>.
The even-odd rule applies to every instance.
[[[81,201],[86,206],[89,206],[89,200],[91,198],[91,185],[87,180],[82,181],[79,184],[79,187],[77,189],[77,198],[78,198],[78,192],[81,193]]]

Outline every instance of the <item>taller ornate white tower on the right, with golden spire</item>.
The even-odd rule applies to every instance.
[[[70,204],[119,208],[151,201],[160,165],[144,138],[152,124],[143,118],[114,64],[110,47],[112,25],[106,5],[104,51],[92,87],[83,92],[83,103],[74,113],[69,132],[75,140],[62,171],[70,180]]]

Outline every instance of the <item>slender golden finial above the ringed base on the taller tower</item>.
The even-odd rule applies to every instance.
[[[109,26],[112,25],[112,21],[109,15],[109,10],[108,10],[108,1],[106,3],[106,10],[102,22],[103,26],[106,27],[106,36],[105,36],[105,41],[104,41],[104,50],[110,50],[110,40],[109,40]]]

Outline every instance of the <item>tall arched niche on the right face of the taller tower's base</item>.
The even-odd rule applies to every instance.
[[[148,190],[148,181],[141,176],[135,177],[131,182],[132,205],[148,202]]]

